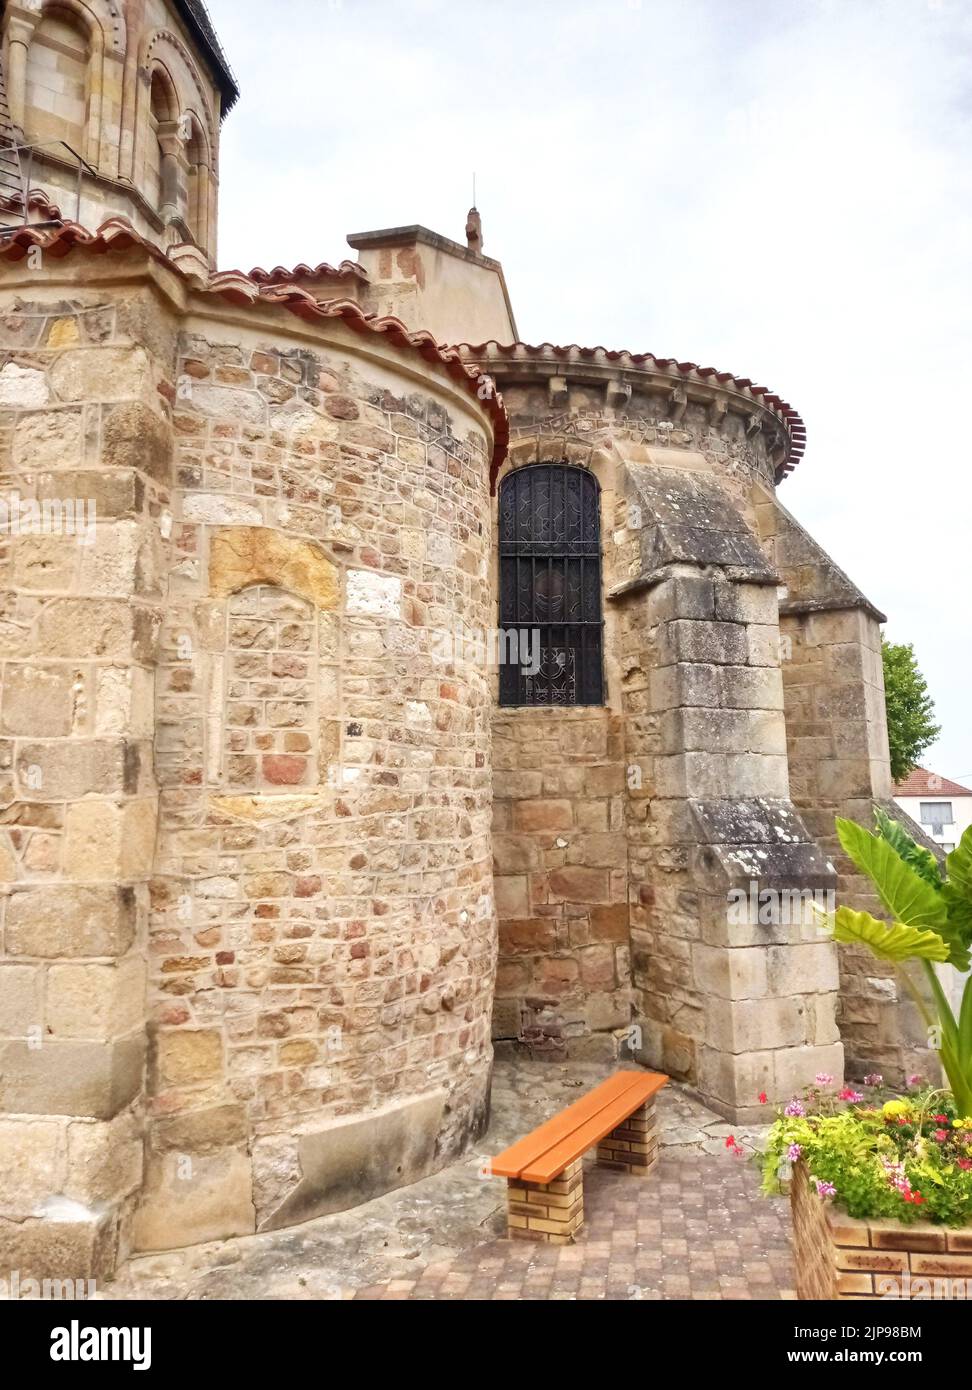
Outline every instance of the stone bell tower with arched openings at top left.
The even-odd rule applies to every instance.
[[[14,0],[3,76],[3,225],[122,215],[216,263],[220,124],[239,89],[202,0]]]

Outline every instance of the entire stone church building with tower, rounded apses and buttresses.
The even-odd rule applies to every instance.
[[[3,74],[0,1268],[412,1182],[494,1051],[921,1070],[812,912],[894,808],[797,411],[521,342],[476,210],[220,270],[200,0],[8,0]]]

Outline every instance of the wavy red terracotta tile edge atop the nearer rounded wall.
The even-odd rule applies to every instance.
[[[239,270],[217,271],[206,279],[199,275],[188,275],[159,246],[139,236],[124,217],[108,218],[96,232],[89,232],[76,222],[64,222],[61,227],[49,231],[40,231],[33,227],[18,227],[8,236],[0,239],[0,261],[24,260],[32,246],[40,246],[44,256],[51,257],[68,256],[75,247],[81,247],[89,254],[104,256],[110,252],[129,250],[132,246],[139,246],[154,260],[167,265],[174,274],[188,279],[197,292],[218,295],[235,304],[280,304],[282,309],[306,321],[341,318],[355,332],[381,334],[402,352],[417,352],[426,361],[438,363],[445,367],[453,381],[459,382],[469,395],[476,396],[484,406],[494,431],[489,478],[491,482],[495,480],[496,470],[506,456],[506,446],[509,443],[509,418],[503,399],[492,389],[484,398],[480,393],[483,373],[478,367],[462,361],[455,348],[439,348],[431,334],[423,331],[410,332],[399,318],[380,318],[377,314],[366,314],[360,304],[356,304],[352,299],[314,299],[310,291],[302,289],[299,285],[286,282],[261,285],[252,275],[245,275]]]

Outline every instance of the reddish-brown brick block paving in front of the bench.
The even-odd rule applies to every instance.
[[[591,1165],[573,1245],[491,1240],[356,1300],[795,1298],[790,1213],[755,1169],[669,1151],[647,1180]]]

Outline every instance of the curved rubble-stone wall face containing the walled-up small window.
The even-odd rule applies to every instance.
[[[175,382],[142,1247],[446,1161],[491,1056],[489,691],[435,645],[487,619],[484,435],[243,325],[186,331]]]

